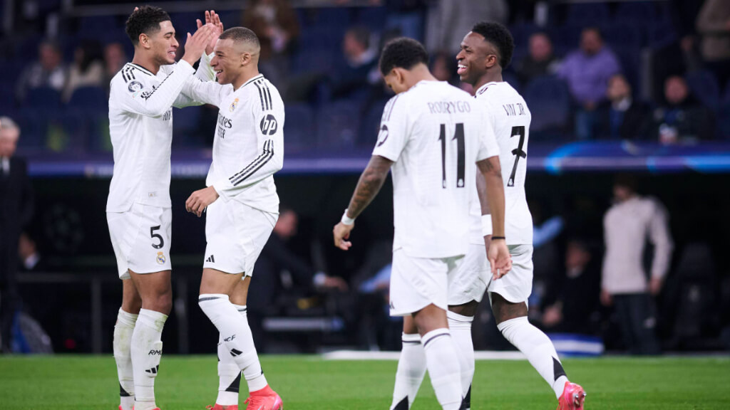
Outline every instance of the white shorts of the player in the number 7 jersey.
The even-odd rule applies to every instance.
[[[485,247],[469,244],[464,263],[450,276],[449,305],[482,301],[485,290],[499,293],[512,303],[526,302],[532,293],[532,245],[508,245],[512,270],[493,280]]]

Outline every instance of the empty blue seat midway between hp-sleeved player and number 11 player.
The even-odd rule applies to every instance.
[[[356,144],[360,131],[360,105],[356,101],[334,101],[317,115],[317,144],[320,150],[337,151]]]

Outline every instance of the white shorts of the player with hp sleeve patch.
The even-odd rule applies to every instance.
[[[205,215],[203,268],[252,276],[279,215],[220,198],[208,205]]]

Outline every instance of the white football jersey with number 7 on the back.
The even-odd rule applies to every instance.
[[[508,245],[532,244],[532,215],[525,197],[527,141],[530,110],[525,100],[507,82],[488,82],[475,98],[486,108],[499,144],[499,163],[504,181],[504,235]],[[472,203],[472,243],[483,244],[479,201]]]

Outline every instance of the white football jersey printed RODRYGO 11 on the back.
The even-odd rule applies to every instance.
[[[499,155],[491,129],[474,98],[447,82],[421,81],[388,101],[372,155],[395,162],[393,250],[466,254],[474,164]]]

